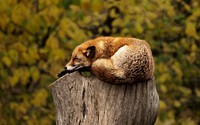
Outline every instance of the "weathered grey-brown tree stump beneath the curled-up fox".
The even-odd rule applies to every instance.
[[[154,79],[114,85],[78,72],[50,86],[57,125],[153,125],[159,107]]]

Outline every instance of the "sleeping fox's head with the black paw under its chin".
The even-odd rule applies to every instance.
[[[65,66],[65,69],[58,74],[58,77],[71,73],[84,68],[90,68],[92,65],[92,59],[95,56],[95,46],[89,46],[83,48],[78,46],[72,53],[71,60]]]

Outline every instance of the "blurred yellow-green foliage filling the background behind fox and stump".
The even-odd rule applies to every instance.
[[[49,84],[75,46],[145,39],[156,62],[156,125],[200,124],[199,0],[0,0],[0,124],[55,124]]]

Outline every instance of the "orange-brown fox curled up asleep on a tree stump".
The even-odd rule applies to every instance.
[[[153,77],[154,60],[144,40],[98,37],[77,46],[58,77],[83,69],[108,83],[134,83]]]

